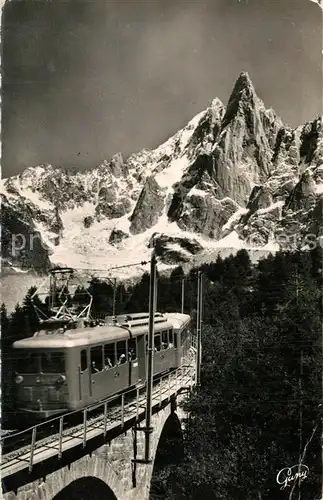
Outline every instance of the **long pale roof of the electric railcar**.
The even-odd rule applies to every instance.
[[[140,315],[138,316],[142,317]],[[172,327],[178,329],[188,323],[189,320],[190,316],[187,314],[165,314],[164,321],[155,323],[154,329],[156,332]],[[14,342],[13,347],[15,349],[65,349],[125,340],[130,338],[130,334],[136,337],[147,331],[148,325],[134,325],[133,328],[126,328],[118,325],[77,328],[74,330],[66,330],[64,333],[39,333],[33,337]]]

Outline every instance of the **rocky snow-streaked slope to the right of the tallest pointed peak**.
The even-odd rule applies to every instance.
[[[323,134],[318,118],[282,129],[268,179],[254,188],[236,230],[251,245],[313,248],[322,236]]]

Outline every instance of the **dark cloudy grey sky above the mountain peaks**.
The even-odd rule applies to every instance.
[[[12,1],[3,12],[3,175],[154,148],[242,70],[292,126],[322,111],[309,0]]]

